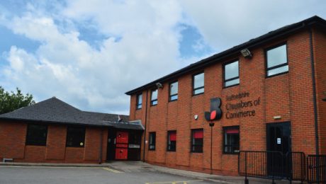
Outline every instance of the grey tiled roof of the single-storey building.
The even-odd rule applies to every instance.
[[[120,122],[118,121],[120,117]],[[13,110],[0,115],[0,119],[28,120],[36,122],[53,122],[60,124],[108,126],[121,129],[143,130],[140,123],[128,122],[128,115],[108,113],[93,113],[74,108],[55,97],[29,105],[25,108]]]

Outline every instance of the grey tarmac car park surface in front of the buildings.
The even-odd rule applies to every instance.
[[[0,163],[2,183],[126,183],[126,184],[203,184],[244,183],[242,176],[217,176],[154,166],[141,161],[113,161],[103,164],[69,163]],[[249,183],[271,183],[271,180],[249,178]],[[276,180],[276,183],[289,183]]]

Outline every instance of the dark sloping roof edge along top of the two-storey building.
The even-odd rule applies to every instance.
[[[202,59],[198,62],[195,62],[193,64],[190,64],[187,67],[184,67],[182,69],[179,69],[177,71],[174,71],[171,74],[168,74],[166,76],[163,76],[155,81],[152,81],[148,84],[145,84],[143,86],[140,86],[138,88],[135,88],[131,91],[125,92],[125,94],[127,95],[133,95],[135,93],[139,93],[141,91],[144,91],[148,88],[153,88],[155,87],[155,84],[157,83],[163,83],[163,82],[167,82],[167,81],[172,81],[175,80],[176,78],[178,78],[179,76],[182,76],[184,74],[189,74],[192,71],[196,71],[198,69],[203,69],[207,66],[209,66],[210,64],[215,64],[216,62],[222,62],[223,59],[225,59],[226,57],[230,57],[232,54],[240,54],[240,51],[243,49],[252,49],[254,47],[259,47],[260,45],[266,43],[266,42],[270,42],[271,40],[275,40],[277,38],[281,38],[285,35],[289,35],[289,34],[293,34],[296,33],[296,31],[298,30],[303,30],[303,29],[307,29],[310,28],[311,26],[319,26],[320,28],[322,28],[323,30],[325,30],[326,28],[326,21],[322,18],[320,18],[319,16],[313,16],[310,18],[307,18],[303,21],[300,21],[298,23],[293,23],[291,25],[286,25],[283,26],[282,28],[279,28],[277,30],[273,30],[270,31],[269,33],[266,33],[264,35],[261,35],[257,38],[251,39],[247,42],[244,42],[240,45],[237,45],[235,47],[232,47],[228,50],[225,50],[223,52],[220,52],[218,54],[214,54],[213,56],[207,57],[206,59]]]

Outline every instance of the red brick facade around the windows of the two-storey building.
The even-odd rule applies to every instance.
[[[269,47],[286,43],[288,73],[266,77],[265,51]],[[318,134],[320,154],[326,154],[326,34],[313,29],[313,58],[317,92]],[[130,120],[142,120],[149,132],[156,132],[156,149],[145,145],[145,161],[173,168],[210,171],[210,127],[204,112],[210,110],[210,98],[222,99],[223,117],[213,127],[213,173],[237,174],[237,154],[223,154],[223,127],[240,126],[240,150],[266,150],[266,124],[291,122],[291,149],[315,154],[315,116],[313,105],[313,80],[309,30],[300,30],[264,45],[254,47],[252,59],[245,59],[240,52],[220,59],[214,64],[164,81],[158,90],[158,104],[150,106],[150,90],[142,91],[142,109],[136,110],[137,93],[130,97]],[[240,85],[223,88],[223,64],[239,60]],[[205,74],[205,92],[192,95],[192,75]],[[169,102],[169,83],[179,82],[178,100]],[[153,86],[154,88],[154,86]],[[259,100],[258,105],[244,110],[254,110],[252,117],[227,119],[227,103],[240,103],[226,97],[249,93],[241,100]],[[147,97],[147,100],[146,100]],[[147,102],[147,105],[146,105]],[[147,110],[147,113],[146,113]],[[232,111],[232,110],[230,110]],[[233,113],[232,112],[229,113]],[[194,115],[198,115],[195,120]],[[147,116],[147,118],[145,118]],[[275,116],[281,119],[275,120]],[[145,122],[147,125],[145,125]],[[203,128],[203,153],[192,153],[191,129]],[[167,131],[176,130],[176,151],[167,151]],[[143,150],[143,148],[142,148]]]

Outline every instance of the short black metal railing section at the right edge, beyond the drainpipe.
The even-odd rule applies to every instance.
[[[308,183],[326,183],[326,155],[307,156]]]

